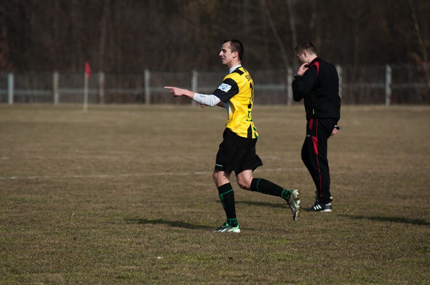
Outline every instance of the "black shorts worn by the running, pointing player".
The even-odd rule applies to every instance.
[[[217,154],[215,169],[236,174],[263,165],[255,152],[256,138],[241,137],[226,128]]]

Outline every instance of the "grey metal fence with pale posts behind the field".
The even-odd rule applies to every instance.
[[[339,66],[343,104],[429,104],[430,65]],[[255,103],[296,104],[293,69],[252,70]],[[164,86],[211,94],[226,72],[96,73],[88,79],[88,103],[189,104],[172,98]],[[83,103],[82,73],[0,73],[0,103]]]

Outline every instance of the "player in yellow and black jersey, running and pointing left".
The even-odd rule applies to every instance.
[[[251,114],[254,104],[254,82],[241,65],[243,52],[240,41],[232,39],[224,42],[220,57],[222,63],[229,68],[229,74],[211,95],[198,94],[177,87],[165,87],[171,90],[170,93],[174,97],[186,96],[199,103],[202,108],[218,105],[227,110],[226,129],[213,170],[213,180],[218,187],[227,216],[227,221],[220,228],[213,230],[221,233],[240,232],[234,191],[230,184],[230,175],[233,171],[236,173],[240,188],[285,199],[293,213],[293,220],[297,220],[300,212],[298,190],[287,190],[271,181],[252,176],[252,172],[261,166],[262,162],[255,152],[258,133]]]

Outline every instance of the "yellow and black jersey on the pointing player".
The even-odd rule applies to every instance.
[[[237,135],[257,138],[258,133],[252,121],[254,103],[254,82],[243,66],[228,74],[213,95],[225,103],[228,119],[226,127]]]

